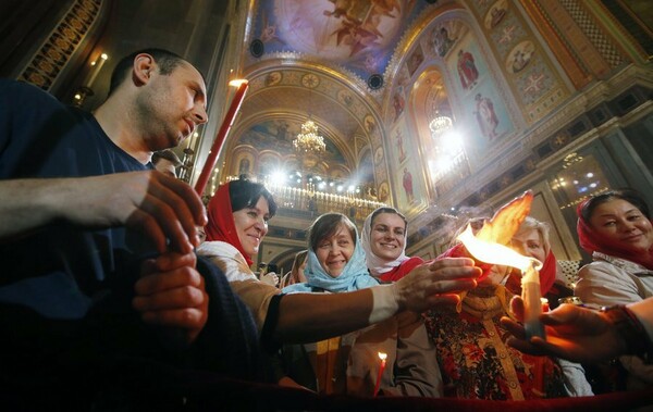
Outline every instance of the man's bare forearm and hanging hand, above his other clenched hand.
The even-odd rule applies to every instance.
[[[78,227],[140,229],[160,252],[188,253],[206,224],[199,197],[186,184],[152,171],[79,178],[0,180],[0,242],[54,222]]]

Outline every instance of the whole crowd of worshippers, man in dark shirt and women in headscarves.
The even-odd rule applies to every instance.
[[[192,371],[326,395],[542,399],[591,396],[580,363],[616,357],[629,389],[653,385],[653,226],[639,193],[578,207],[594,261],[572,292],[608,308],[562,304],[540,316],[546,339],[527,338],[518,272],[460,245],[408,257],[408,221],[389,207],[360,236],[343,214],[317,216],[292,271],[261,282],[251,265],[273,195],[241,178],[205,209],[174,177],[178,159],[155,165],[207,122],[206,104],[202,75],[161,49],[122,59],[93,114],[0,79],[3,395],[124,409],[140,401],[134,384]],[[477,236],[540,261],[557,301],[549,227],[500,212]]]

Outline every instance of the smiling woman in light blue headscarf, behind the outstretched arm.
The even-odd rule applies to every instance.
[[[306,283],[284,292],[344,292],[378,285],[352,221],[341,213],[319,216],[309,229]],[[377,385],[381,360],[387,355]],[[442,396],[435,352],[418,314],[402,312],[385,322],[329,340],[282,349],[280,384],[319,394]]]

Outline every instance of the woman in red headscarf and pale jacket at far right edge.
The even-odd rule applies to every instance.
[[[577,208],[580,246],[593,262],[579,272],[575,295],[583,303],[623,305],[653,297],[653,225],[649,207],[631,189],[594,196]],[[653,365],[621,357],[628,389],[653,386]]]

